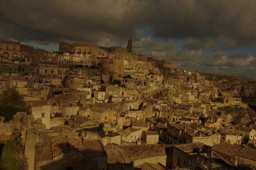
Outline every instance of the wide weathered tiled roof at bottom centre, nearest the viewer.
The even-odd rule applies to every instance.
[[[150,145],[120,145],[124,152],[131,159],[154,157],[157,155],[165,155],[165,150],[160,144]]]

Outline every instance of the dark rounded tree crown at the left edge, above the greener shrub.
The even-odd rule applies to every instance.
[[[0,105],[25,106],[25,104],[23,96],[15,87],[8,88],[0,94]]]

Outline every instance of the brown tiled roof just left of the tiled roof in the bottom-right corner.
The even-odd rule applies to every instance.
[[[212,150],[219,152],[220,154],[225,154],[228,157],[235,157],[238,153],[243,150],[243,146],[237,144],[229,144],[227,142],[223,142],[213,147]]]

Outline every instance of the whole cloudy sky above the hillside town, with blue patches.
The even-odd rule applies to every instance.
[[[0,40],[127,46],[180,69],[256,80],[255,0],[0,0]]]

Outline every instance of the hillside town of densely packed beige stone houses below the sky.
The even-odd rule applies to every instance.
[[[0,42],[0,100],[25,103],[0,103],[0,141],[18,142],[18,169],[256,169],[256,81],[133,48]]]

